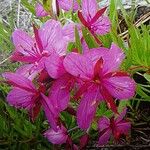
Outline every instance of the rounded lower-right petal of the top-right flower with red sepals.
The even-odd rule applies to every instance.
[[[108,17],[100,17],[96,22],[91,25],[91,30],[94,33],[103,35],[110,31],[110,20]]]

